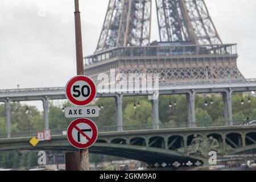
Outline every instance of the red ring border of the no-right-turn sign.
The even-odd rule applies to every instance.
[[[88,143],[86,144],[81,144],[81,143],[78,143],[76,142],[76,140],[73,139],[72,137],[72,130],[74,129],[74,127],[79,124],[79,123],[86,123],[87,125],[89,125],[92,129],[92,138],[88,141]],[[68,138],[68,141],[69,143],[72,144],[72,146],[76,147],[76,148],[79,148],[79,149],[84,149],[84,148],[89,148],[90,146],[92,146],[97,138],[98,138],[98,129],[97,129],[97,126],[96,124],[91,121],[90,119],[88,118],[79,118],[79,119],[75,119],[74,121],[72,121],[69,126],[68,126],[68,131],[67,131],[67,138]]]

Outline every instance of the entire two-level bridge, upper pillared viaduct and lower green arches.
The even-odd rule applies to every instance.
[[[175,161],[207,162],[212,140],[217,141],[215,150],[221,156],[236,154],[256,147],[256,127],[245,122],[233,121],[232,94],[256,90],[256,79],[209,80],[193,82],[160,82],[158,88],[145,88],[138,85],[133,92],[123,92],[109,87],[108,92],[98,86],[97,97],[114,97],[117,113],[117,125],[100,127],[100,135],[90,151],[96,154],[108,154],[141,160],[148,164],[172,164]],[[196,94],[221,93],[224,101],[225,122],[196,122]],[[126,96],[152,96],[167,94],[185,94],[187,98],[188,122],[165,124],[159,122],[158,98],[151,100],[152,124],[123,126],[122,98]],[[74,150],[62,131],[51,130],[52,140],[40,142],[32,147],[28,141],[36,136],[36,131],[11,133],[10,102],[42,100],[44,106],[45,128],[49,129],[48,101],[65,99],[64,88],[34,88],[0,90],[0,102],[6,106],[7,133],[0,134],[0,150]],[[197,135],[195,137],[194,135]],[[204,150],[196,151],[193,137],[200,138]],[[210,139],[213,137],[213,139]],[[140,155],[138,155],[140,154]]]

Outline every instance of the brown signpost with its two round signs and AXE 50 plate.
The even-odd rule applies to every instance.
[[[82,55],[82,32],[81,18],[79,11],[79,0],[75,0],[75,31],[76,31],[76,69],[77,76],[71,78],[65,88],[65,93],[70,102],[76,106],[86,106],[96,97],[96,85],[89,77],[84,76],[84,59]],[[95,112],[94,112],[95,111]],[[97,117],[99,109],[92,107],[68,107],[65,108],[65,116],[72,117]],[[74,134],[73,134],[74,133]],[[96,141],[98,135],[97,126],[86,118],[73,121],[67,131],[69,142],[80,148],[80,161],[77,165],[72,154],[67,154],[68,164],[80,166],[80,169],[89,171],[89,150],[88,147]],[[73,161],[73,162],[72,162]],[[69,163],[70,162],[70,163]],[[84,165],[82,165],[84,164]],[[69,166],[68,166],[69,167]],[[66,166],[67,168],[67,166]],[[72,167],[71,167],[72,169]]]

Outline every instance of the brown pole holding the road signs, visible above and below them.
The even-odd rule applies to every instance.
[[[75,0],[75,31],[76,31],[76,71],[77,75],[84,75],[84,58],[82,55],[82,31],[79,11],[79,0]],[[89,150],[80,150],[81,171],[89,171]]]

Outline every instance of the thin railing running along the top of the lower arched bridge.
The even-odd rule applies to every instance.
[[[248,126],[250,121],[233,121],[232,126]],[[98,131],[100,133],[117,132],[117,131],[136,131],[136,130],[155,130],[155,129],[178,129],[178,128],[198,128],[198,127],[217,127],[226,126],[225,121],[215,122],[176,122],[176,123],[159,123],[158,125],[126,125],[126,126],[100,126]],[[229,125],[230,126],[230,125]],[[226,126],[226,127],[229,127]],[[52,129],[51,135],[65,135],[65,129]],[[0,138],[19,138],[19,137],[36,137],[38,131],[20,131],[13,133],[0,133]]]

